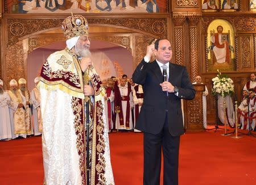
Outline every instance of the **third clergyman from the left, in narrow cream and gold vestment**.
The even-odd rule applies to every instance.
[[[30,125],[28,128],[27,135],[34,134],[34,127],[32,126],[32,113],[31,113],[31,103],[30,103],[30,91],[27,90],[27,81],[24,78],[20,78],[19,81],[19,93],[26,99],[25,106],[25,123]]]

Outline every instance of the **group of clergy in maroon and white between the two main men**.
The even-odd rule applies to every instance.
[[[134,128],[143,104],[142,86],[123,74],[120,79],[102,80],[102,87],[106,90],[105,116],[109,132],[141,132]]]

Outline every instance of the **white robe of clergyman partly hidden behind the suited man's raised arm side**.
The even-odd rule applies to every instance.
[[[136,125],[136,112],[140,112],[141,111],[141,106],[136,106],[138,103],[143,103],[143,98],[139,98],[137,97],[137,93],[138,94],[143,94],[143,89],[142,89],[142,85],[138,85],[138,91],[136,91],[135,89],[137,89],[137,87],[133,88],[133,103],[134,103],[134,132],[141,132],[138,129],[135,129],[135,125]],[[138,108],[138,110],[137,110]]]

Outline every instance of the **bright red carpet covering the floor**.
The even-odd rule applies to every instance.
[[[256,184],[256,138],[221,136],[222,130],[181,136],[179,184]],[[143,134],[111,133],[110,150],[117,185],[141,185]],[[0,184],[43,182],[41,137],[0,141]]]

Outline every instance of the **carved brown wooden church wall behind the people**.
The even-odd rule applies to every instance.
[[[192,81],[196,75],[201,75],[203,82],[207,85],[209,90],[209,95],[207,96],[208,123],[214,123],[215,115],[213,112],[216,111],[216,108],[214,96],[210,95],[210,91],[212,89],[211,79],[216,77],[217,68],[211,66],[213,63],[210,63],[212,62],[210,59],[213,60],[213,58],[209,57],[210,54],[207,51],[209,42],[207,37],[210,34],[208,27],[210,24],[214,20],[225,20],[229,23],[229,27],[233,28],[233,33],[230,32],[229,35],[233,36],[233,58],[229,69],[222,68],[221,72],[228,74],[233,79],[236,89],[234,99],[237,99],[238,103],[241,100],[241,89],[245,82],[249,80],[250,73],[255,72],[256,65],[256,12],[250,9],[250,1],[237,0],[237,10],[220,10],[222,1],[216,0],[214,2],[217,3],[216,11],[202,10],[203,2],[200,0],[170,0],[167,3],[166,12],[155,14],[138,14],[135,12],[118,14],[113,12],[110,14],[83,15],[88,18],[89,25],[109,26],[127,30],[128,35],[125,36],[119,35],[115,37],[113,33],[110,33],[112,37],[109,40],[125,46],[132,53],[133,69],[146,53],[147,42],[152,37],[170,39],[174,54],[172,62],[187,66]],[[22,66],[23,57],[26,56],[26,53],[9,57],[11,53],[19,53],[21,51],[23,43],[20,43],[20,41],[33,35],[36,36],[46,30],[56,29],[68,15],[70,14],[51,13],[43,16],[42,14],[5,14],[5,16],[2,16],[2,24],[0,25],[3,30],[0,33],[1,41],[3,41],[3,44],[1,44],[2,65],[0,66],[2,78],[9,81],[10,78],[18,78],[26,74],[26,69],[19,67]],[[28,23],[32,23],[34,27],[29,26]],[[224,27],[226,29],[225,24]],[[11,28],[18,30],[15,32],[15,29],[11,30]],[[21,30],[19,30],[20,28]],[[96,34],[96,37],[103,38],[102,34]],[[104,39],[109,37],[104,37]],[[19,72],[16,74],[11,72],[11,70],[15,69],[15,65],[11,64],[11,61],[14,60],[19,64]],[[188,107],[187,111],[193,112],[192,107]]]

